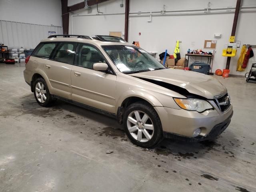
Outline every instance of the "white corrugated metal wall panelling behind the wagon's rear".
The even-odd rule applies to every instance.
[[[29,47],[48,37],[48,31],[62,34],[62,27],[26,24],[0,20],[0,43],[9,47]]]

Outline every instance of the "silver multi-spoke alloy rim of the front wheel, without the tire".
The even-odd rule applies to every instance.
[[[131,136],[139,142],[148,142],[154,134],[150,117],[142,111],[132,111],[127,118],[127,128]]]

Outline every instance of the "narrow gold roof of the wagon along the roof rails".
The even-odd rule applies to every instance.
[[[122,43],[122,42],[108,42],[108,41],[100,41],[96,39],[85,39],[85,38],[74,38],[74,37],[62,37],[62,38],[47,38],[41,40],[41,42],[79,42],[79,43],[89,43],[96,44],[98,46],[102,45],[133,45],[130,43]]]

